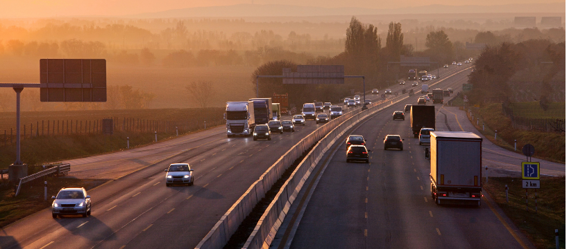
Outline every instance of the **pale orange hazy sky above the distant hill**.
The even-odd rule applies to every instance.
[[[260,4],[289,4],[296,6],[321,6],[327,8],[404,8],[431,4],[443,5],[501,5],[509,3],[554,3],[559,0],[253,0]],[[227,6],[251,3],[251,0],[0,0],[0,18],[56,17],[83,15],[130,15],[142,12],[158,12],[199,6]]]

